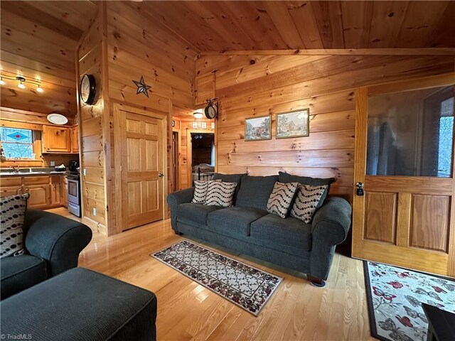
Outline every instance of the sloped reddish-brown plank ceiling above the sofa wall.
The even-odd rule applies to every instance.
[[[455,47],[455,1],[144,1],[200,52]]]

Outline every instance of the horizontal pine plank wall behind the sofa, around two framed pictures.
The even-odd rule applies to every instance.
[[[286,171],[335,177],[331,194],[352,201],[355,89],[454,71],[453,56],[205,55],[196,77],[216,70],[220,173]],[[196,89],[197,90],[197,89]],[[310,135],[275,139],[275,114],[309,108]],[[245,118],[272,114],[272,140],[244,141]]]

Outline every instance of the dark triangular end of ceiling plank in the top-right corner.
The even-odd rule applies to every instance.
[[[455,1],[450,1],[446,11],[437,25],[437,28],[432,33],[432,36],[427,40],[427,46],[431,48],[437,47],[455,47]]]

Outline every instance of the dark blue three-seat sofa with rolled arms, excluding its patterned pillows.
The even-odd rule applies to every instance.
[[[223,208],[192,203],[194,188],[167,197],[172,229],[232,251],[300,271],[324,286],[337,244],[348,236],[351,207],[341,197],[327,197],[311,224],[269,214],[267,200],[276,181],[322,185],[327,180],[286,173],[271,176],[215,174],[215,180],[236,182],[235,205]],[[330,184],[331,181],[328,181]]]

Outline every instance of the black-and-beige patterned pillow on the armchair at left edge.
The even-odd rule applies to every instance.
[[[0,258],[18,256],[23,248],[23,220],[25,219],[28,193],[0,198]]]

